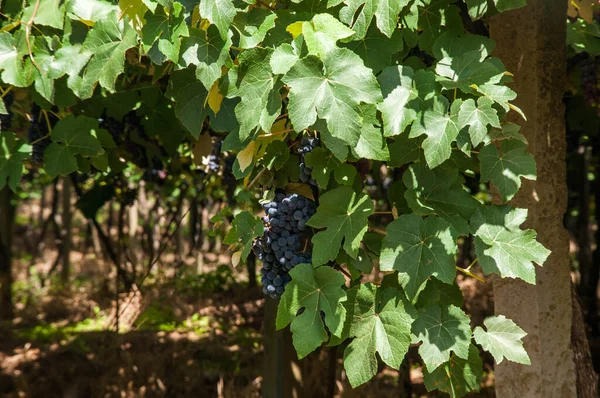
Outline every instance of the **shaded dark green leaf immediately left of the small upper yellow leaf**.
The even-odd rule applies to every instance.
[[[198,139],[208,116],[208,108],[204,106],[208,91],[202,82],[196,80],[194,70],[188,68],[173,72],[166,95],[175,101],[177,118]]]

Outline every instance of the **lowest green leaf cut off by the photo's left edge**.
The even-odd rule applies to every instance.
[[[23,161],[29,157],[31,146],[12,132],[0,132],[0,189],[9,186],[14,192],[21,182]]]

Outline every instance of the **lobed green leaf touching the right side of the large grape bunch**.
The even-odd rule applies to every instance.
[[[368,217],[373,211],[373,201],[349,187],[338,187],[323,194],[319,198],[317,213],[306,223],[314,228],[326,228],[312,238],[313,265],[334,260],[342,242],[346,253],[356,258],[360,242],[368,229]]]

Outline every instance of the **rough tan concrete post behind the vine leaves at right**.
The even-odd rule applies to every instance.
[[[496,42],[493,55],[515,75],[515,104],[528,121],[522,125],[529,151],[537,162],[538,179],[524,181],[512,201],[529,209],[524,227],[552,254],[537,268],[537,285],[494,279],[495,311],[512,318],[528,336],[525,349],[531,366],[504,361],[496,366],[498,397],[575,397],[571,350],[571,287],[569,245],[563,227],[567,207],[565,125],[562,97],[565,80],[567,2],[527,0],[527,7],[502,13],[490,21]],[[511,112],[514,113],[514,112]]]

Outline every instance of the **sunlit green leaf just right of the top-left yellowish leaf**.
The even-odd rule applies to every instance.
[[[181,3],[174,2],[173,8],[167,14],[158,7],[157,12],[146,13],[146,23],[142,28],[142,43],[146,49],[158,41],[158,50],[170,61],[179,60],[179,49],[181,47],[181,36],[188,36],[188,26],[185,22],[185,12]],[[151,54],[150,54],[151,55]],[[151,55],[152,58],[152,55]],[[155,63],[156,59],[153,59]]]

